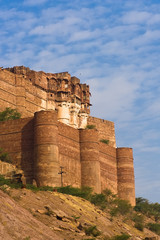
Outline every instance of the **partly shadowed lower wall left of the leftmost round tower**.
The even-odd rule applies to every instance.
[[[33,179],[33,118],[0,122],[0,147],[24,171],[28,183]]]

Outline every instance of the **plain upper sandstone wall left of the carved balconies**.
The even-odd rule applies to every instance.
[[[45,89],[34,85],[25,76],[0,70],[0,109],[16,108],[22,117],[33,116],[36,111],[54,109],[54,99],[47,97]]]

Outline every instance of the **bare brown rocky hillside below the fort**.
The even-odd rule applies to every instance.
[[[137,230],[124,216],[111,217],[79,197],[8,186],[0,190],[0,240],[107,240],[122,234],[130,235],[129,239],[160,239],[146,228]]]

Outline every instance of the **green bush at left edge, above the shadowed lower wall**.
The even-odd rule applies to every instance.
[[[21,114],[16,109],[6,108],[0,112],[0,121],[8,121],[21,118]]]

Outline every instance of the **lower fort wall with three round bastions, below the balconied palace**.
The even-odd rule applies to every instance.
[[[105,132],[113,132],[112,122],[93,117],[89,122],[96,129],[75,129],[59,122],[54,110],[39,111],[34,117],[0,122],[0,146],[28,183],[35,179],[38,185],[60,186],[62,166],[64,186],[90,186],[97,193],[109,188],[134,205],[132,149],[100,142]]]

